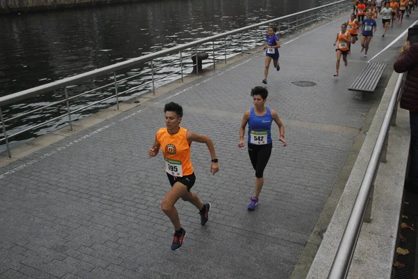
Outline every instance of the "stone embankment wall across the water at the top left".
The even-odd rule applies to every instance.
[[[79,6],[107,5],[144,0],[0,0],[0,14],[33,10],[57,10]]]

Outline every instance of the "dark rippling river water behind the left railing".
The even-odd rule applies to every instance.
[[[0,17],[0,96],[330,2],[160,0],[3,16]],[[141,70],[144,69],[133,69],[124,75],[141,73]],[[129,88],[149,79],[149,75],[137,77],[123,86]],[[107,77],[104,80],[109,82]],[[91,84],[81,84],[77,89],[69,90],[69,93],[71,96],[87,89],[91,89]],[[138,95],[143,91],[134,91],[132,94]],[[62,90],[54,91],[3,107],[3,113],[10,118],[61,100],[62,96]],[[94,94],[88,97],[90,101],[98,100]],[[72,109],[79,107],[77,102],[81,104],[86,100],[76,100],[72,103]],[[74,118],[82,118],[100,107],[109,106],[111,102],[114,100],[84,110]],[[63,106],[49,108],[30,118],[10,121],[7,128],[15,132],[63,112]],[[66,119],[55,121],[13,140],[27,140],[65,123]]]

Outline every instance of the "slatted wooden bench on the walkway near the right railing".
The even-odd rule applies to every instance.
[[[369,65],[362,70],[362,73],[355,79],[348,90],[361,91],[359,96],[355,96],[356,100],[370,100],[366,97],[366,92],[373,92],[378,85],[380,77],[385,71],[386,63],[369,63]]]

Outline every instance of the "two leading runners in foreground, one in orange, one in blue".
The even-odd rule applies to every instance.
[[[251,89],[251,97],[254,107],[251,107],[242,116],[238,147],[245,146],[245,127],[248,124],[247,148],[251,165],[256,173],[256,181],[254,196],[250,198],[251,201],[247,209],[254,211],[258,205],[258,196],[263,188],[263,172],[272,153],[271,126],[273,122],[279,127],[279,141],[283,142],[283,146],[286,146],[286,141],[284,140],[284,125],[277,112],[265,106],[268,90],[263,86],[256,86]],[[191,191],[196,181],[190,160],[192,142],[201,142],[208,146],[212,174],[219,171],[219,163],[215,146],[210,137],[199,135],[180,126],[183,119],[183,107],[177,103],[167,103],[164,106],[164,114],[166,127],[157,131],[154,144],[148,149],[148,156],[155,157],[160,148],[162,149],[165,172],[171,184],[171,190],[162,199],[161,208],[173,223],[175,230],[171,250],[178,250],[183,245],[183,239],[186,236],[186,231],[180,224],[178,211],[175,207],[178,199],[181,198],[196,206],[200,213],[201,225],[206,225],[209,220],[210,203],[202,203],[199,197]]]

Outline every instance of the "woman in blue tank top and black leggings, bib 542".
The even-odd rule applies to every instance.
[[[254,210],[258,205],[258,195],[260,195],[261,188],[263,188],[263,172],[272,153],[271,127],[273,121],[279,126],[279,140],[284,143],[283,146],[286,146],[286,141],[284,140],[284,125],[281,123],[277,112],[271,110],[270,107],[264,106],[268,96],[267,89],[262,86],[256,86],[251,89],[251,96],[253,97],[254,107],[247,110],[242,117],[238,147],[241,148],[245,145],[245,126],[248,123],[248,154],[251,165],[256,171],[254,197],[251,197],[248,209]]]

